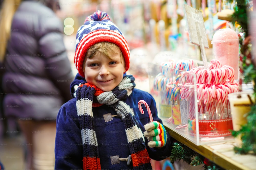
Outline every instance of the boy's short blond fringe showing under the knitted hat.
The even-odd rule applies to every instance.
[[[84,63],[85,63],[86,58],[92,58],[96,55],[102,54],[102,55],[108,57],[109,59],[111,59],[111,56],[119,54],[119,51],[121,51],[119,46],[117,46],[114,43],[110,43],[110,42],[99,42],[99,43],[92,45],[86,52],[84,62],[83,62],[83,70],[84,70],[84,66],[85,66]],[[124,59],[122,52],[121,52],[120,57],[121,57],[121,62],[122,62],[122,58]]]

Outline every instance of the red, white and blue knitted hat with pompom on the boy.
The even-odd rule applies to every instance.
[[[119,46],[125,61],[125,71],[129,69],[130,49],[122,32],[110,21],[106,12],[98,10],[88,16],[77,31],[74,63],[81,76],[84,77],[83,62],[87,50],[99,42],[111,42]]]

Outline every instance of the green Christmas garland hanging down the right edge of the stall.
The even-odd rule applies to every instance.
[[[240,38],[240,62],[241,73],[244,76],[244,82],[256,82],[256,69],[252,63],[251,57],[251,36],[248,33],[248,1],[237,0],[234,6],[234,13],[232,15],[232,23],[239,24],[243,36]],[[244,37],[244,38],[243,38]],[[254,56],[255,57],[255,56]],[[256,85],[253,84],[254,94],[251,100],[251,111],[247,113],[247,124],[242,125],[239,131],[231,131],[232,136],[241,136],[242,146],[234,147],[234,151],[240,154],[254,154],[256,155]]]

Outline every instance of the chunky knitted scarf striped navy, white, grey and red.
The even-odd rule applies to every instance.
[[[121,83],[112,91],[104,92],[87,82],[79,85],[76,91],[76,106],[83,142],[83,169],[101,169],[92,107],[99,107],[103,104],[112,105],[122,116],[133,169],[152,169],[142,130],[130,107],[122,101],[131,95],[134,87],[132,75],[124,76]]]

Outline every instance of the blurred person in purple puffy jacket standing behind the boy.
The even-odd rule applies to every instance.
[[[0,59],[4,115],[25,136],[27,169],[54,169],[56,117],[73,80],[58,1],[4,0]]]

